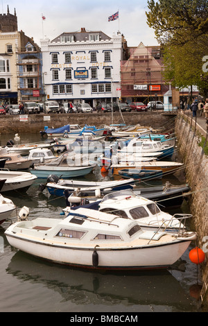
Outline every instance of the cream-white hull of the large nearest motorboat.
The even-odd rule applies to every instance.
[[[44,231],[45,233],[46,231]],[[6,232],[6,238],[13,246],[28,254],[79,268],[98,270],[139,270],[150,268],[167,268],[179,259],[187,250],[190,241],[175,241],[161,245],[139,247],[96,248],[97,266],[94,266],[94,248],[70,246],[67,243],[55,244],[47,239],[36,241],[24,239]],[[55,242],[55,241],[54,241]]]

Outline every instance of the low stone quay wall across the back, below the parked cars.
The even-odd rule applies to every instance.
[[[21,119],[19,115],[6,114],[0,116],[0,133],[29,133],[40,132],[44,126],[49,128],[59,128],[66,124],[76,124],[85,126],[105,126],[111,123],[125,123],[126,125],[151,126],[153,128],[162,128],[170,126],[175,119],[175,114],[162,114],[162,112],[114,112],[113,120],[111,113],[76,113],[76,114],[28,114]],[[123,119],[122,119],[123,117]],[[173,125],[172,123],[172,125]]]

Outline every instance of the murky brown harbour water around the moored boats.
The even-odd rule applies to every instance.
[[[40,135],[20,135],[22,142],[40,141]],[[1,146],[13,135],[1,135]],[[100,169],[85,177],[102,180]],[[110,175],[105,177],[105,180]],[[172,176],[171,182],[179,181]],[[18,208],[27,206],[29,217],[60,217],[64,198],[55,198],[38,187],[27,193],[6,194]],[[171,210],[187,211],[187,203]],[[199,267],[189,260],[193,243],[174,266],[164,271],[98,273],[52,264],[11,248],[4,236],[9,222],[0,227],[1,312],[199,312]],[[3,241],[2,241],[3,240]]]

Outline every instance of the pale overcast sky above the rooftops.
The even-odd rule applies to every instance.
[[[112,37],[120,31],[128,46],[157,45],[155,33],[146,24],[147,0],[0,0],[0,12],[16,8],[18,31],[24,31],[40,45],[40,39],[53,40],[63,32],[103,31]],[[119,19],[108,17],[119,10]],[[46,17],[42,22],[42,15]]]

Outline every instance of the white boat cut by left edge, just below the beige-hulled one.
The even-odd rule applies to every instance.
[[[1,192],[21,190],[26,191],[37,179],[35,175],[24,171],[0,171],[0,179],[6,180],[3,184]]]

